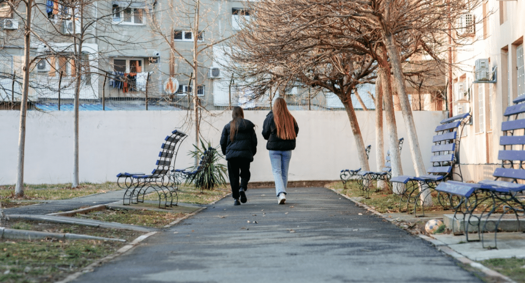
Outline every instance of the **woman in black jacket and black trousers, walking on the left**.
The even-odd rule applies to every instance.
[[[257,136],[254,123],[244,119],[242,108],[234,107],[232,117],[233,120],[224,126],[220,135],[220,149],[228,161],[234,205],[240,205],[247,201],[245,192],[250,180],[250,162],[254,161],[254,155],[257,153]]]

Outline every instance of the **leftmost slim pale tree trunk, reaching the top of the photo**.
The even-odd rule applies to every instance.
[[[22,99],[20,99],[20,125],[18,130],[18,164],[17,179],[15,186],[15,195],[20,197],[24,195],[24,152],[26,143],[26,115],[27,115],[27,97],[29,95],[29,65],[30,65],[30,40],[31,40],[31,6],[33,0],[27,0],[26,3],[26,24],[24,28],[24,79]]]

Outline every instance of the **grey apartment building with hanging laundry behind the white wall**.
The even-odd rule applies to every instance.
[[[78,71],[82,100],[148,98],[185,108],[195,69],[201,104],[213,109],[237,104],[242,97],[220,67],[227,60],[223,39],[250,15],[242,1],[36,3],[39,8],[33,9],[31,21],[31,101],[74,98]],[[8,2],[0,3],[0,101],[20,96],[24,15],[24,6],[13,9]]]

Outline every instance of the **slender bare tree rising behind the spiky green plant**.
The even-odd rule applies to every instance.
[[[193,117],[188,122],[193,123],[195,144],[199,144],[202,111],[206,110],[206,105],[203,105],[198,92],[211,65],[213,47],[222,44],[230,36],[226,34],[225,27],[217,23],[218,18],[226,11],[222,5],[204,4],[200,0],[164,4],[159,4],[158,11],[150,14],[151,32],[160,44],[168,47],[170,68],[166,75],[170,78],[185,78],[188,86],[191,86],[188,88],[187,102],[188,110],[190,104],[193,107],[193,112],[189,113]],[[187,68],[183,66],[191,71],[186,71]]]

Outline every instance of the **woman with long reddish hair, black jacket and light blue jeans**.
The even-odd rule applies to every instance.
[[[277,203],[286,202],[288,167],[292,150],[296,147],[299,125],[293,118],[283,98],[274,101],[274,107],[262,125],[262,137],[268,140],[266,149],[270,153],[271,171],[274,173]]]

